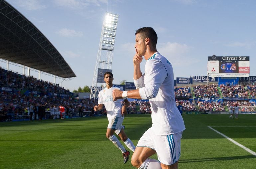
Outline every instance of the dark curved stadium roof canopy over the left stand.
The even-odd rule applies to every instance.
[[[5,0],[0,0],[0,58],[62,78],[76,77],[51,42]]]

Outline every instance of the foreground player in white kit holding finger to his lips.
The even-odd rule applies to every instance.
[[[113,98],[149,99],[152,127],[140,138],[132,156],[132,165],[139,169],[178,168],[181,137],[185,130],[181,113],[176,107],[171,63],[156,49],[157,34],[151,27],[135,33],[133,57],[136,90],[113,91]],[[142,56],[147,60],[142,75]],[[158,160],[149,157],[157,153]]]

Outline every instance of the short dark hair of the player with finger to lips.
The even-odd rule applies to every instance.
[[[157,33],[152,27],[142,27],[136,30],[135,35],[141,34],[141,38],[144,40],[149,38],[152,41],[153,47],[157,48]]]

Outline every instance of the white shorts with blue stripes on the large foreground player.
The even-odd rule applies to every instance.
[[[140,138],[137,147],[149,147],[156,150],[158,160],[165,165],[176,163],[181,155],[182,132],[171,135],[155,135],[149,128]]]

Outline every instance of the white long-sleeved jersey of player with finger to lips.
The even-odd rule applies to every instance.
[[[142,99],[149,99],[152,128],[156,135],[169,135],[185,130],[174,96],[173,67],[159,52],[146,62],[145,73],[134,80]]]

